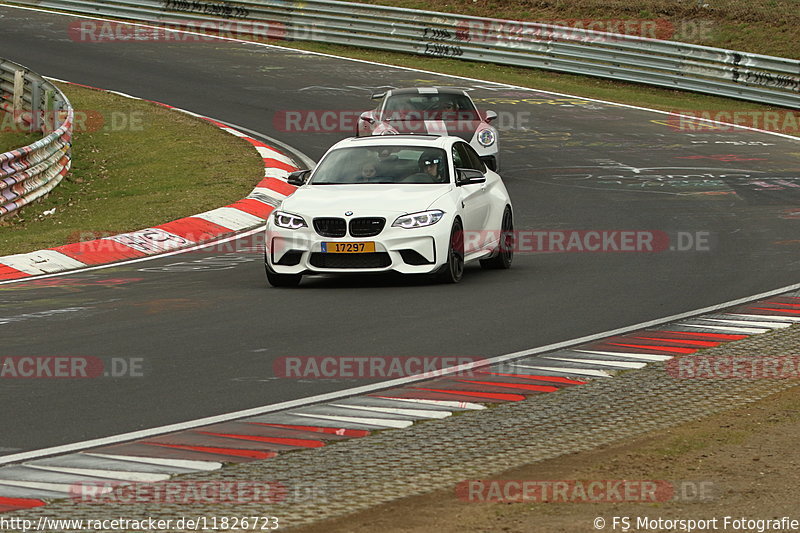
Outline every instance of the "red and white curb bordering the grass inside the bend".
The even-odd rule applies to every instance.
[[[139,100],[128,94],[107,92]],[[286,182],[286,176],[298,170],[297,163],[277,148],[209,117],[160,102],[152,103],[203,119],[250,143],[264,161],[264,178],[246,198],[204,213],[93,241],[0,257],[0,281],[138,259],[214,241],[264,224],[275,206],[294,192],[296,187]]]

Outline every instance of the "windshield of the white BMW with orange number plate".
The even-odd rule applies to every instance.
[[[447,157],[441,148],[359,146],[339,148],[325,156],[310,183],[447,183],[449,176]]]

